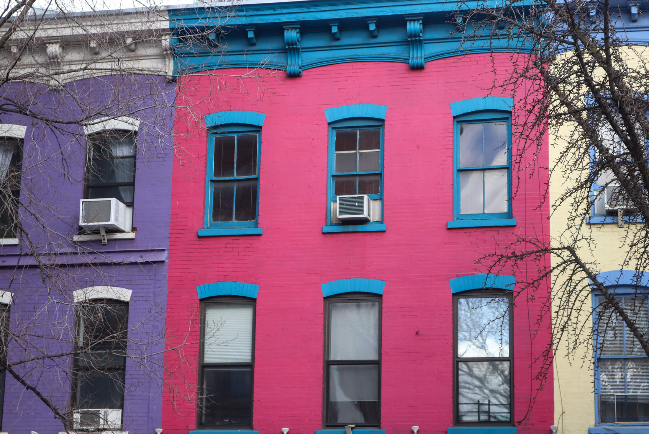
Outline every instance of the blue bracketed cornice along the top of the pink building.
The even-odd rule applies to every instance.
[[[299,77],[310,68],[364,61],[403,62],[415,70],[437,58],[521,51],[522,41],[491,34],[459,49],[462,34],[450,22],[456,12],[457,3],[448,0],[313,0],[242,4],[227,17],[213,8],[178,8],[169,17],[177,75],[262,66]],[[219,44],[196,36],[215,26],[224,29]],[[472,32],[472,23],[465,26]]]

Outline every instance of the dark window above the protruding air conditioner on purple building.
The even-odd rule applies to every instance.
[[[136,133],[110,130],[88,136],[85,199],[117,198],[132,206]]]

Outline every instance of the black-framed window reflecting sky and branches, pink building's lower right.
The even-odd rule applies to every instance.
[[[511,292],[454,296],[456,424],[512,424]]]

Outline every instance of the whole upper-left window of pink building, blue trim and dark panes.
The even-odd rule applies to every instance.
[[[265,115],[232,110],[205,116],[205,220],[199,236],[261,235],[259,171]]]

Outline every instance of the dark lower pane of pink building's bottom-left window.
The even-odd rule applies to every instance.
[[[202,424],[252,425],[252,368],[204,368]]]

